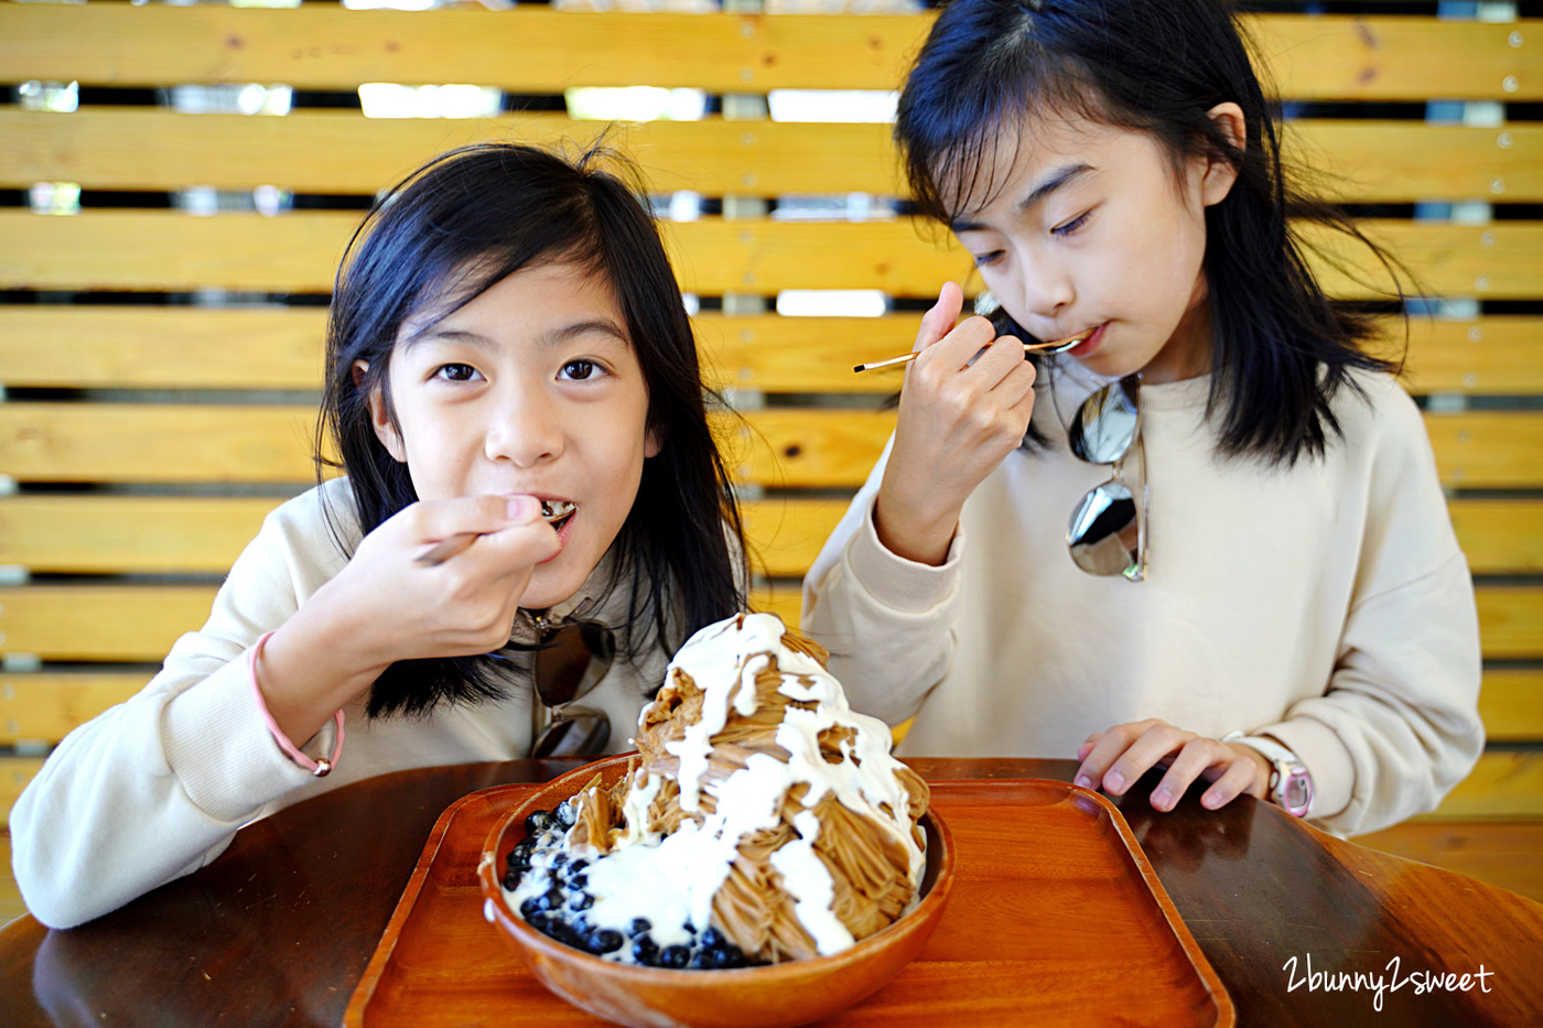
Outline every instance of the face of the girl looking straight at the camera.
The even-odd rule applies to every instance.
[[[407,465],[423,500],[526,492],[568,500],[562,550],[537,565],[520,605],[571,597],[633,509],[643,460],[648,386],[626,321],[602,278],[574,264],[509,275],[432,323],[410,318],[392,352],[375,434]]]

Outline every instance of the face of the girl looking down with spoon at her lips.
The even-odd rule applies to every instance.
[[[1233,133],[1233,117],[1236,128]],[[1211,111],[1242,145],[1242,111]],[[1040,340],[1097,329],[1069,350],[1100,375],[1148,383],[1210,370],[1205,207],[1236,178],[1227,162],[1185,157],[1176,171],[1146,133],[1082,116],[1031,116],[998,137],[986,202],[952,224],[981,279]]]

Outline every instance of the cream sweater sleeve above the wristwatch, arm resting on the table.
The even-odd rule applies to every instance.
[[[1308,817],[1344,835],[1433,810],[1484,749],[1472,577],[1424,424],[1392,389],[1378,406],[1364,550],[1327,690],[1256,729],[1302,759]]]

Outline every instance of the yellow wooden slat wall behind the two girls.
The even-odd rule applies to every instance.
[[[1270,14],[1248,26],[1288,100],[1535,102],[1543,23],[1420,15]],[[517,93],[586,85],[890,90],[930,15],[668,15],[262,11],[0,3],[0,85],[472,82]],[[511,54],[520,54],[511,60]],[[1543,127],[1307,117],[1288,154],[1355,204],[1543,202]],[[85,103],[73,114],[0,103],[0,190],[73,182],[164,194],[190,187],[369,196],[435,151],[474,139],[611,142],[659,191],[710,198],[903,188],[887,125],[727,120],[602,127],[560,114],[380,120],[302,108],[285,117]],[[111,196],[111,194],[108,194]],[[1444,817],[1543,817],[1543,221],[1528,207],[1486,224],[1412,221],[1379,208],[1370,235],[1418,276],[1416,292],[1469,303],[1463,318],[1407,324],[1404,381],[1438,395],[1426,417],[1450,509],[1480,576],[1492,741]],[[164,290],[309,293],[332,287],[358,215],[190,218],[89,202],[68,218],[0,207],[0,746],[49,744],[137,690],[176,636],[202,622],[219,574],[282,495],[312,480],[309,445],[324,310],[157,303]],[[969,261],[906,218],[785,222],[705,218],[668,228],[682,286],[702,296],[876,289],[896,301],[967,278]],[[1338,244],[1330,245],[1342,252]],[[1344,252],[1352,264],[1358,255]],[[1321,265],[1338,296],[1369,287]],[[1376,273],[1369,279],[1381,284]],[[96,299],[111,290],[113,304]],[[151,303],[130,303],[147,293]],[[1497,301],[1501,304],[1497,307]],[[756,602],[798,616],[798,577],[866,475],[896,378],[852,364],[909,349],[917,313],[883,318],[697,318],[710,378],[759,395],[722,437],[747,505]],[[1406,326],[1386,323],[1389,352]],[[39,392],[42,391],[42,392]],[[65,391],[60,394],[59,391]],[[82,392],[86,391],[86,392]],[[168,392],[170,391],[170,392]],[[826,394],[829,409],[781,394]],[[856,394],[856,395],[853,395]],[[853,406],[856,404],[856,406]],[[77,483],[93,483],[82,492]],[[177,576],[177,577],[167,577]],[[35,664],[35,667],[34,667]],[[1517,749],[1520,744],[1520,749]],[[37,766],[0,756],[0,809]]]

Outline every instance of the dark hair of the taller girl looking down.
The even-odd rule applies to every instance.
[[[1244,111],[1242,150],[1207,117],[1228,100]],[[954,0],[917,57],[895,120],[918,208],[950,224],[975,190],[997,181],[998,133],[1034,111],[1148,133],[1176,170],[1190,156],[1237,170],[1227,198],[1205,208],[1217,448],[1282,463],[1322,455],[1339,434],[1330,400],[1356,387],[1350,369],[1396,364],[1364,350],[1375,335],[1367,313],[1324,296],[1288,216],[1366,244],[1398,292],[1400,270],[1341,210],[1288,184],[1273,110],[1227,5]],[[998,332],[1031,338],[1004,310],[995,321]]]

